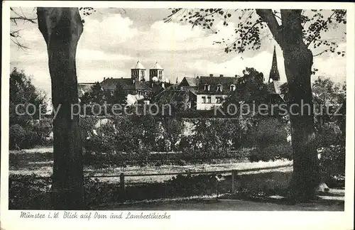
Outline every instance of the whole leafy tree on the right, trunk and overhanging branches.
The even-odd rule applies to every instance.
[[[224,25],[228,26],[230,18],[236,18],[236,40],[226,45],[225,52],[235,50],[243,53],[246,48],[261,47],[261,31],[263,28],[273,35],[275,41],[283,50],[285,73],[288,80],[288,99],[290,104],[297,104],[294,114],[290,115],[292,145],[293,145],[293,179],[290,183],[291,197],[296,201],[308,200],[314,197],[315,189],[320,183],[320,164],[315,146],[314,117],[310,114],[300,114],[300,104],[312,106],[312,90],[310,77],[314,48],[326,45],[320,55],[333,52],[337,43],[322,39],[322,32],[329,31],[330,23],[346,23],[345,10],[332,10],[324,13],[322,10],[304,11],[301,9],[243,9],[232,17],[232,13],[224,9],[173,9],[166,22],[171,21],[178,13],[180,21],[202,26],[212,30],[214,18],[222,17]],[[214,17],[216,16],[216,17]],[[306,27],[307,24],[307,27]],[[218,33],[218,31],[216,31]],[[226,43],[223,40],[222,43]]]

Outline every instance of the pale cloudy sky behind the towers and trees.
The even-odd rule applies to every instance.
[[[35,9],[15,9],[28,17],[35,17]],[[164,23],[169,9],[97,9],[90,16],[82,15],[84,31],[77,47],[78,82],[101,82],[104,77],[131,77],[131,67],[140,61],[148,70],[158,62],[165,71],[165,77],[175,83],[183,77],[234,76],[242,75],[246,67],[263,72],[268,80],[275,46],[278,70],[285,81],[283,54],[268,30],[261,32],[261,48],[245,53],[224,53],[223,44],[214,44],[222,38],[229,39],[236,27],[236,14],[229,26],[217,21],[212,33],[200,27],[174,20]],[[45,41],[38,25],[18,21],[11,23],[11,31],[20,30],[21,44],[28,49],[18,48],[11,43],[11,67],[25,70],[33,84],[50,98],[50,75]],[[345,26],[327,33],[326,38],[338,40],[338,50],[346,50]],[[338,51],[337,50],[337,51]],[[316,53],[317,50],[315,50]],[[324,53],[314,58],[313,67],[317,75],[330,77],[334,82],[346,80],[346,55]],[[146,72],[148,75],[148,71]]]

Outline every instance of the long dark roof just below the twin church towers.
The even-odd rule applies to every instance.
[[[151,87],[148,87],[147,84],[134,80],[131,78],[107,78],[101,82],[102,87],[105,90],[114,90],[116,85],[120,83],[124,90],[147,90],[152,91]]]

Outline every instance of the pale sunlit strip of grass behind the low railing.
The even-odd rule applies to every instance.
[[[50,148],[36,148],[34,150],[24,150],[22,152],[11,152],[14,154],[32,154],[35,155],[36,159],[41,159],[41,161],[33,161],[31,158],[25,158],[26,160],[19,160],[16,163],[11,163],[9,168],[10,175],[31,175],[35,174],[41,177],[49,177],[53,173],[53,160],[48,158],[48,153],[50,153]],[[53,148],[52,148],[53,150]],[[40,156],[43,155],[43,158]],[[280,172],[290,172],[292,171],[292,161],[290,160],[275,160],[270,162],[254,162],[250,163],[247,161],[241,162],[241,160],[214,160],[213,164],[202,163],[199,165],[146,165],[131,166],[127,165],[125,168],[94,168],[90,166],[84,166],[84,175],[94,176],[94,175],[119,175],[124,172],[125,175],[133,174],[151,174],[151,173],[168,173],[168,172],[207,172],[207,171],[220,171],[220,170],[243,170],[251,168],[268,168],[274,166],[288,166],[285,168],[277,169]],[[268,170],[263,170],[267,172]],[[244,172],[245,174],[246,172]],[[256,172],[249,172],[256,173]],[[141,177],[125,177],[126,183],[149,183],[149,182],[163,182],[164,180],[170,179],[172,176],[141,176]],[[119,177],[107,177],[99,178],[102,182],[119,182]]]

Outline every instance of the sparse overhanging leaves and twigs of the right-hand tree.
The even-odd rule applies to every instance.
[[[282,30],[282,23],[287,18],[282,14],[285,10],[266,9],[172,9],[171,14],[165,18],[165,22],[178,20],[181,23],[190,23],[192,27],[200,26],[212,33],[219,33],[216,24],[223,22],[224,26],[235,23],[234,34],[229,38],[215,41],[224,44],[224,51],[243,53],[245,50],[258,50],[262,40],[268,33],[268,28],[273,33],[278,43],[282,42],[276,33]],[[322,9],[302,10],[301,14],[303,41],[307,47],[317,50],[323,47],[320,53],[334,53],[337,48],[337,40],[323,38],[324,33],[337,29],[339,24],[346,24],[346,10]],[[281,24],[281,26],[279,26]],[[344,34],[345,35],[345,34]],[[344,56],[344,51],[337,52]]]

